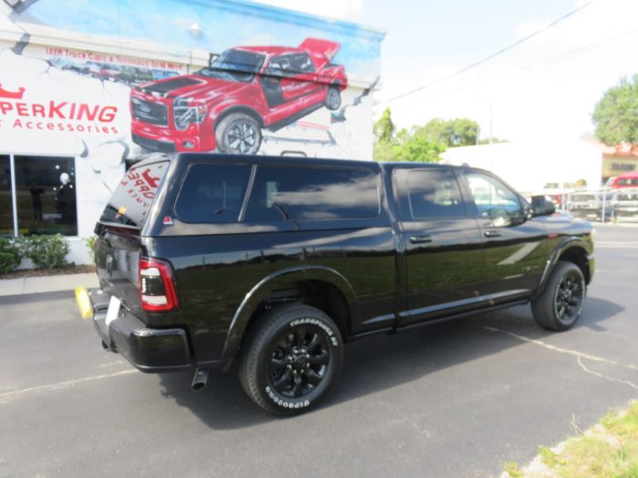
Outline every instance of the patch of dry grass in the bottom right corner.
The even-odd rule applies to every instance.
[[[607,413],[599,424],[553,449],[541,446],[535,462],[544,465],[546,473],[533,476],[638,478],[638,402]],[[504,472],[512,478],[532,476],[527,468],[510,465]]]

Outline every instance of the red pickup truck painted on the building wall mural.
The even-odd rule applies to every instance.
[[[131,90],[133,141],[162,151],[254,154],[272,131],[315,109],[341,105],[344,66],[330,63],[339,44],[306,38],[298,47],[238,46],[211,66]]]

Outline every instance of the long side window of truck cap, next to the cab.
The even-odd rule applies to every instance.
[[[260,166],[246,221],[375,218],[376,176],[364,168]]]

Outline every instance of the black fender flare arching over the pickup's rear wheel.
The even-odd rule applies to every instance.
[[[334,269],[324,266],[296,266],[277,270],[260,280],[243,298],[242,303],[232,317],[231,326],[226,334],[226,340],[221,351],[221,361],[232,361],[252,315],[269,293],[286,285],[308,280],[331,284],[344,295],[348,304],[355,302],[356,294],[352,285],[341,273]]]

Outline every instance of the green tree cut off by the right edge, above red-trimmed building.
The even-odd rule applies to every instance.
[[[638,75],[621,79],[602,95],[593,111],[596,137],[603,143],[638,144]]]

